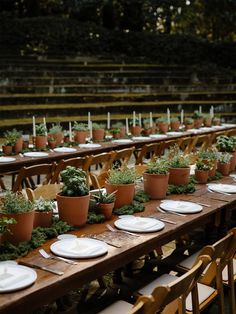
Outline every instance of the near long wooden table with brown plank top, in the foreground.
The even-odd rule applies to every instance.
[[[232,177],[224,177],[221,182],[233,183],[234,181]],[[21,258],[21,260],[42,266],[52,266],[64,271],[64,275],[57,276],[37,270],[38,278],[31,287],[18,292],[0,295],[0,313],[30,313],[32,310],[54,301],[91,280],[124,266],[136,258],[151,252],[158,246],[164,245],[199,226],[206,224],[211,224],[215,227],[225,226],[236,203],[236,194],[209,193],[206,185],[197,185],[197,189],[193,194],[172,195],[168,198],[199,201],[209,204],[211,207],[203,207],[203,210],[199,213],[180,217],[157,212],[156,206],[160,204],[160,201],[150,201],[146,204],[145,211],[137,215],[155,215],[157,218],[166,217],[175,220],[177,224],[166,223],[163,230],[152,233],[140,233],[139,237],[125,235],[120,239],[120,248],[108,246],[106,255],[78,260],[78,265],[68,265],[60,261],[46,260],[39,255],[37,249],[32,251],[26,257]],[[112,224],[116,219],[117,216],[113,216],[107,222]],[[73,233],[77,236],[86,234],[101,235],[106,230],[105,224],[94,224],[86,225]],[[114,237],[117,236],[114,235]],[[55,241],[56,239],[47,241],[43,248],[49,251],[50,245]]]

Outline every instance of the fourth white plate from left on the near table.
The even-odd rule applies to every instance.
[[[174,211],[176,213],[194,214],[202,211],[202,206],[193,202],[164,200],[160,207],[166,211]]]

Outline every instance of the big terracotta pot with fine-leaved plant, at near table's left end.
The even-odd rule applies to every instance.
[[[31,239],[34,210],[33,204],[23,194],[7,191],[0,203],[0,218],[7,217],[16,220],[15,224],[9,225],[9,232],[4,234],[4,240],[13,244]]]

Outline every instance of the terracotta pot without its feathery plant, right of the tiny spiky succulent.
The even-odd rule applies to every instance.
[[[135,184],[110,184],[105,183],[107,193],[116,192],[114,208],[120,208],[124,205],[130,205],[134,199]]]

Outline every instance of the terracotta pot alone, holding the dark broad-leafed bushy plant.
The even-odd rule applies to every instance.
[[[75,227],[84,226],[87,222],[90,195],[62,196],[57,194],[59,218]]]

